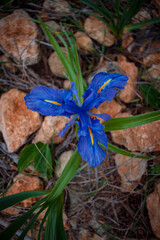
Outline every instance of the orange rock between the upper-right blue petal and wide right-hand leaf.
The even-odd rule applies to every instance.
[[[107,113],[113,118],[115,115],[120,113],[125,108],[126,108],[125,105],[119,104],[113,99],[111,102],[106,101],[102,103],[98,108],[93,108],[91,112],[96,114]],[[100,119],[100,122],[104,123],[105,120]]]

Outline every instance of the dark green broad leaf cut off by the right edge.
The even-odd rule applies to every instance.
[[[140,87],[143,96],[152,108],[159,108],[160,106],[160,92],[152,86],[141,85]]]

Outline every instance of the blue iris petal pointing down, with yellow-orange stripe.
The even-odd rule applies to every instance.
[[[90,118],[86,113],[80,115],[78,125],[78,152],[91,167],[97,167],[106,157],[105,151],[98,144],[99,142],[107,146],[104,126],[98,119]]]

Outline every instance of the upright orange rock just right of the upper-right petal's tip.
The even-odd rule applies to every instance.
[[[125,86],[125,89],[120,91],[120,99],[125,103],[131,102],[135,97],[137,88],[138,68],[133,62],[127,62],[126,59],[118,59],[121,73],[127,75],[129,80]]]

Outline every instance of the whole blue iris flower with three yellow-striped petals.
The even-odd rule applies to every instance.
[[[76,83],[71,82],[70,90],[51,89],[46,86],[34,87],[25,96],[27,108],[42,115],[65,116],[72,119],[68,122],[59,136],[68,130],[74,122],[78,125],[78,152],[83,160],[91,167],[97,167],[106,157],[100,144],[107,147],[107,135],[104,126],[97,117],[109,120],[109,114],[94,114],[89,112],[104,101],[111,101],[118,89],[123,89],[128,80],[122,74],[100,72],[94,76],[83,95],[81,105]],[[77,100],[73,100],[73,94]],[[78,104],[77,104],[78,103]]]

